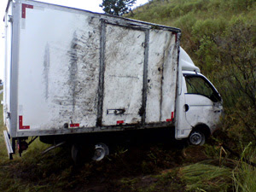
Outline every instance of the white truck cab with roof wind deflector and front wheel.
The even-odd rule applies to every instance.
[[[177,99],[176,138],[189,138],[189,143],[202,145],[217,125],[223,113],[223,101],[218,90],[200,73],[184,49],[180,48],[182,67],[181,89]]]

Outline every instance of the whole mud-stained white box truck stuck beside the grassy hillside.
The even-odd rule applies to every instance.
[[[9,0],[4,22],[10,158],[28,137],[95,143],[101,160],[103,143],[124,136],[173,132],[202,144],[216,129],[222,99],[180,47],[179,29],[32,0]]]

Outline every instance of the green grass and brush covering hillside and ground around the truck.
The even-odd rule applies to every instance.
[[[220,129],[205,146],[120,146],[79,167],[68,146],[43,155],[38,141],[9,161],[1,107],[0,191],[256,191],[245,162],[256,162],[255,0],[153,0],[127,16],[182,29],[183,49],[224,98]]]

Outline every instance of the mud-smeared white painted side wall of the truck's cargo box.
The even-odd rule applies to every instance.
[[[46,134],[65,130],[65,124],[95,128],[99,118],[100,61],[105,65],[103,126],[117,125],[120,120],[125,125],[141,123],[143,111],[148,124],[171,119],[177,85],[175,33],[112,16],[25,3],[33,8],[26,8],[26,18],[21,18],[21,13],[14,18],[20,20],[20,35],[13,44],[18,49],[17,119],[22,116],[22,125],[29,126],[20,130],[17,121],[17,131],[23,136],[26,131]],[[144,69],[147,66],[148,70]],[[148,79],[143,79],[146,73]],[[143,86],[148,94],[145,109]],[[108,113],[113,109],[125,112]]]

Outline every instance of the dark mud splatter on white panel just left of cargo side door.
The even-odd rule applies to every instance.
[[[55,113],[66,123],[95,126],[97,114],[97,90],[99,80],[100,33],[98,20],[84,20],[84,25],[73,32],[64,62],[58,69],[64,79],[56,82]],[[83,23],[81,24],[83,25]],[[58,94],[61,93],[61,94]],[[61,122],[60,122],[61,123]]]

